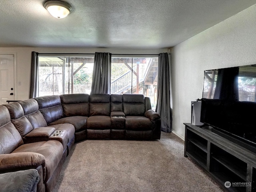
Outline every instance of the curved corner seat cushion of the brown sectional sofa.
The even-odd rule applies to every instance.
[[[64,117],[64,118],[58,119],[58,120],[48,124],[48,126],[52,126],[52,125],[56,125],[56,124],[70,123],[75,127],[75,132],[79,132],[79,131],[86,129],[87,118],[88,117],[84,117],[84,116]]]

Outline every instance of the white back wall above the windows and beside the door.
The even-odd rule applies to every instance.
[[[110,52],[112,54],[159,54],[167,49],[108,49],[108,48],[32,48],[32,47],[0,47],[0,54],[14,54],[16,64],[15,100],[25,100],[29,97],[31,52],[38,53],[95,53]],[[21,82],[21,85],[18,85]]]

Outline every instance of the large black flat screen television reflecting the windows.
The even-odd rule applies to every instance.
[[[204,71],[200,121],[256,152],[256,65]]]

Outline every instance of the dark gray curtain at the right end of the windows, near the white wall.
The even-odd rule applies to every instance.
[[[161,130],[164,132],[171,132],[172,130],[170,92],[170,68],[168,53],[160,53],[158,56],[156,112],[161,117]]]

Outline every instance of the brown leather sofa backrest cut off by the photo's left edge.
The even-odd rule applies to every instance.
[[[11,122],[6,106],[0,106],[0,154],[8,154],[23,144],[20,133]]]

